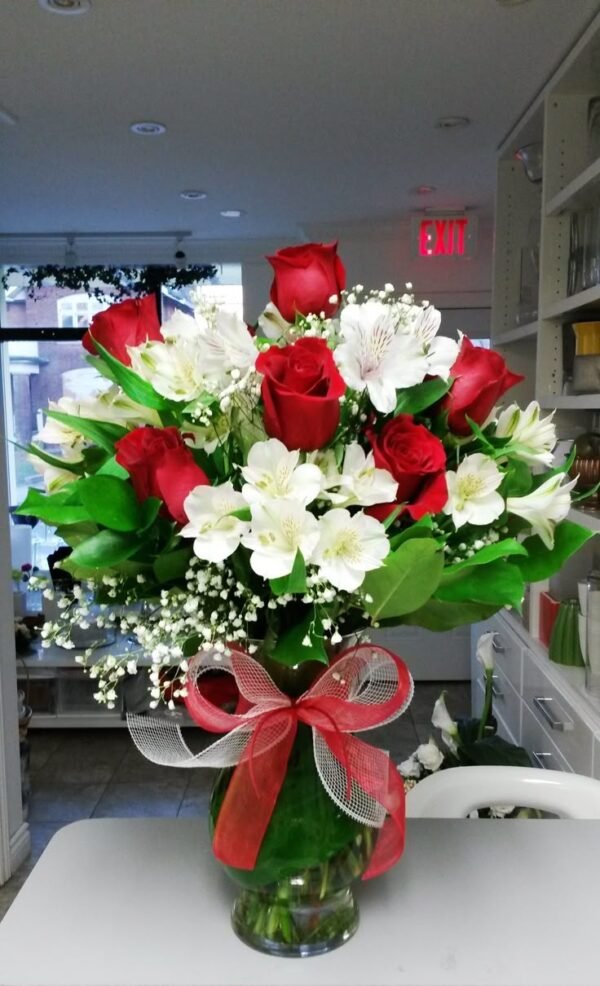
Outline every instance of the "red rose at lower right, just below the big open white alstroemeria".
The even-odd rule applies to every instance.
[[[378,435],[369,430],[367,437],[377,468],[387,469],[398,483],[396,502],[406,504],[413,520],[438,513],[448,499],[446,453],[439,438],[410,414],[387,421]],[[392,510],[393,503],[382,503],[367,513],[385,520]]]

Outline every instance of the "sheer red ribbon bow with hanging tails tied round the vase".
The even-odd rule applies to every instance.
[[[227,670],[249,703],[248,711],[230,714],[201,693],[197,683],[205,670],[201,663],[190,669],[185,699],[198,725],[230,734],[219,744],[239,739],[237,766],[214,832],[216,857],[237,869],[251,870],[256,865],[302,722],[313,729],[317,769],[328,794],[357,821],[381,826],[363,879],[393,866],[404,850],[404,782],[385,751],[352,733],[389,722],[407,708],[412,678],[404,662],[383,647],[353,647],[296,700],[284,695],[243,651],[231,648],[230,665]],[[374,671],[371,680],[369,669],[375,666],[379,677]],[[379,821],[373,821],[373,811]]]

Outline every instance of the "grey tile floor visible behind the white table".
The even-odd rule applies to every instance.
[[[407,714],[372,741],[399,763],[426,742],[433,704],[440,691],[455,717],[470,714],[469,682],[418,682]],[[198,732],[186,737],[190,746]],[[363,733],[368,739],[369,733]],[[207,812],[213,780],[210,770],[177,770],[149,763],[137,752],[126,729],[31,730],[31,855],[0,887],[0,920],[54,833],[81,818],[175,818]]]

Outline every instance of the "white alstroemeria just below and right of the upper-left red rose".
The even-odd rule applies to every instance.
[[[172,401],[192,401],[205,386],[204,356],[199,345],[181,338],[128,346],[131,369]]]

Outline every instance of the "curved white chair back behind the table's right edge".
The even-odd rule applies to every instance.
[[[466,818],[477,808],[519,805],[562,818],[600,818],[600,781],[536,767],[451,767],[406,797],[408,818]]]

